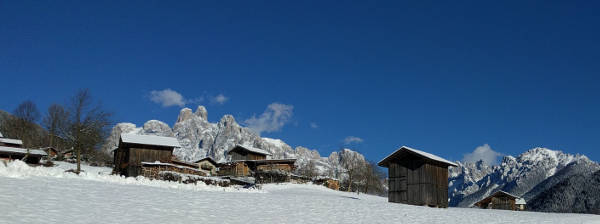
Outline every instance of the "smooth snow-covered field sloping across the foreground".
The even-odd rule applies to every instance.
[[[84,166],[0,162],[0,223],[600,223],[600,216],[428,208],[315,185],[262,190],[150,181]]]

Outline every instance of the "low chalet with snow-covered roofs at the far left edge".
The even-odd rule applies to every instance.
[[[23,148],[23,141],[19,139],[0,138],[0,159],[19,159],[35,164],[39,163],[46,155],[43,150]]]

